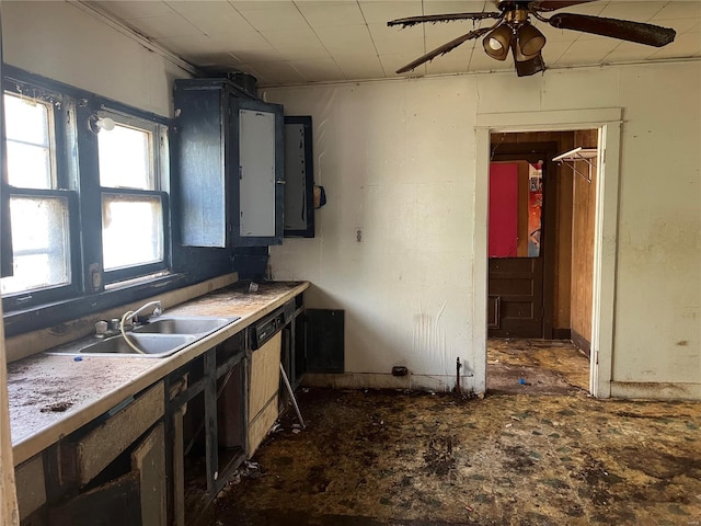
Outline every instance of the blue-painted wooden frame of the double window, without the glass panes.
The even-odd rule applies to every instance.
[[[39,327],[49,327],[66,319],[74,319],[93,311],[99,305],[119,305],[135,297],[146,297],[154,289],[182,286],[186,276],[173,271],[171,241],[171,121],[12,66],[3,65],[0,85],[3,94],[7,91],[53,104],[50,129],[55,148],[53,162],[57,188],[10,186],[8,190],[10,198],[14,195],[67,197],[71,275],[71,283],[68,285],[3,295],[7,334],[12,335]],[[116,123],[152,133],[151,156],[157,190],[140,192],[154,195],[162,203],[163,259],[158,263],[108,272],[103,270],[102,193],[104,191],[124,194],[139,191],[101,187],[97,135],[91,130],[89,122],[92,116],[108,116]]]

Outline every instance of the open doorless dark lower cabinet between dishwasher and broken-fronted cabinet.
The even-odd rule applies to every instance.
[[[248,364],[241,332],[165,380],[171,524],[192,524],[245,459]]]

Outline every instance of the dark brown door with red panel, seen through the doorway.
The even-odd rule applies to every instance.
[[[524,138],[539,137],[492,137],[487,335],[551,340],[559,142]]]

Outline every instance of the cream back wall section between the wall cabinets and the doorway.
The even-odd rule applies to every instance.
[[[266,92],[313,115],[329,197],[317,238],[273,250],[274,276],[309,279],[311,306],[346,310],[348,371],[405,365],[441,389],[471,355],[474,80]]]

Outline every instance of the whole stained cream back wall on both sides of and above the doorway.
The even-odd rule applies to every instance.
[[[380,375],[406,365],[413,385],[450,388],[456,357],[480,370],[476,114],[622,107],[612,392],[701,398],[700,92],[699,62],[266,90],[313,117],[329,204],[272,265],[314,284],[310,306],[346,310],[337,384],[395,385]]]

